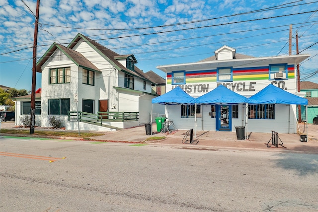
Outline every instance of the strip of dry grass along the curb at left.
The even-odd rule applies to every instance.
[[[0,133],[6,133],[6,134],[15,134],[15,135],[29,135],[30,130],[12,130],[12,129],[1,129]],[[35,136],[64,136],[64,137],[75,137],[75,138],[89,138],[89,137],[95,137],[95,136],[102,136],[104,134],[102,133],[79,133],[78,132],[61,132],[61,131],[37,131],[35,129],[34,134]]]

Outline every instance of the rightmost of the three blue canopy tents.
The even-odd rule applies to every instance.
[[[288,105],[306,105],[306,120],[307,120],[307,105],[306,98],[297,96],[287,92],[273,84],[267,85],[265,88],[247,99],[248,104],[288,104]],[[308,134],[308,133],[307,133]]]

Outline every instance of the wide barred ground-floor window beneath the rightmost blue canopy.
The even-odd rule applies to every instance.
[[[249,119],[275,119],[275,104],[248,105]]]

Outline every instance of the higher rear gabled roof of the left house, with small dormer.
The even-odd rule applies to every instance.
[[[80,33],[77,34],[77,36],[73,39],[73,41],[70,43],[68,48],[73,49],[73,47],[79,42],[80,39],[83,39],[90,47],[95,49],[95,51],[98,52],[106,61],[108,61],[113,66],[115,66],[116,69],[118,69],[120,71],[124,71],[126,73],[129,73],[132,76],[141,77],[145,80],[150,81],[148,79],[147,75],[143,71],[138,69],[138,67],[135,66],[135,71],[131,71],[130,69],[127,69],[119,61],[116,60],[115,57],[117,57],[117,59],[118,59],[118,56],[123,57],[122,55],[119,55],[116,52],[113,52],[112,50],[102,46],[101,44],[97,43],[96,41],[93,41],[90,38],[88,38]],[[129,55],[129,56],[131,56],[131,55]]]

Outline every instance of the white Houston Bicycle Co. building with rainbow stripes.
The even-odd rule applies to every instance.
[[[192,97],[200,97],[219,84],[251,97],[268,84],[292,94],[297,92],[297,64],[310,57],[308,54],[255,58],[237,54],[234,48],[223,46],[215,56],[195,63],[163,65],[166,72],[166,92],[181,87]],[[196,106],[196,129],[235,131],[236,126],[247,127],[249,132],[297,133],[296,105],[286,104],[204,104]],[[167,105],[165,115],[178,129],[194,128],[194,105]],[[248,122],[247,122],[248,121]]]

